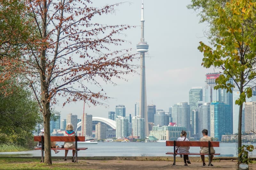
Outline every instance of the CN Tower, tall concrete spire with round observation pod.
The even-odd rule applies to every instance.
[[[137,51],[140,53],[140,117],[145,119],[145,136],[149,136],[148,131],[148,109],[146,93],[146,73],[145,73],[145,52],[148,51],[148,44],[144,41],[144,8],[143,0],[141,5],[141,38],[137,44]]]

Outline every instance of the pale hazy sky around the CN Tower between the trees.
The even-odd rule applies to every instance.
[[[98,0],[97,6],[123,2],[118,0]],[[138,26],[128,30],[124,48],[136,50],[140,41],[141,0],[129,0],[117,7],[115,14],[100,17],[104,24],[128,24]],[[203,54],[197,49],[199,41],[208,42],[204,37],[206,24],[198,24],[196,12],[188,10],[190,0],[144,0],[145,41],[149,49],[146,54],[147,104],[155,104],[156,109],[169,112],[169,107],[178,102],[188,102],[191,87],[204,87],[205,74],[214,72],[201,66]],[[135,61],[139,64],[139,61]],[[140,75],[126,77],[128,81],[116,80],[117,86],[104,85],[110,99],[109,106],[85,106],[85,113],[92,116],[108,117],[108,111],[115,111],[116,105],[125,105],[126,115],[134,115],[134,104],[140,100]],[[76,102],[65,107],[56,106],[61,119],[68,113],[83,113],[83,102]]]

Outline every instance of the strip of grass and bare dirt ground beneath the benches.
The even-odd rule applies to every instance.
[[[5,161],[6,159],[6,161]],[[129,160],[130,159],[130,160]],[[116,157],[115,160],[106,158],[90,159],[89,157],[78,157],[78,163],[72,163],[71,157],[68,157],[67,161],[64,161],[61,157],[53,157],[52,165],[48,166],[44,163],[40,163],[40,158],[33,159],[19,159],[19,158],[4,158],[0,157],[0,169],[63,169],[63,170],[167,170],[167,169],[228,169],[236,170],[237,161],[233,159],[215,159],[212,167],[203,166],[200,157],[190,157],[191,164],[184,166],[182,159],[177,158],[176,166],[172,166],[172,159],[166,160],[158,157],[147,159],[141,157],[140,159],[131,159],[125,157]],[[208,160],[208,159],[206,159]],[[208,165],[208,162],[205,162]],[[2,168],[1,168],[2,167]],[[250,164],[250,170],[256,170],[256,163]]]

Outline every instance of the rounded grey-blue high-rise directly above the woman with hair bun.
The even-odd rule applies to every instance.
[[[179,127],[185,127],[191,131],[190,125],[190,107],[188,102],[177,103],[177,120],[176,124]]]

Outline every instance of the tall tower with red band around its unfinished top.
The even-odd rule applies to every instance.
[[[221,101],[221,90],[214,90],[215,80],[220,76],[220,73],[207,73],[205,76],[205,102]]]

